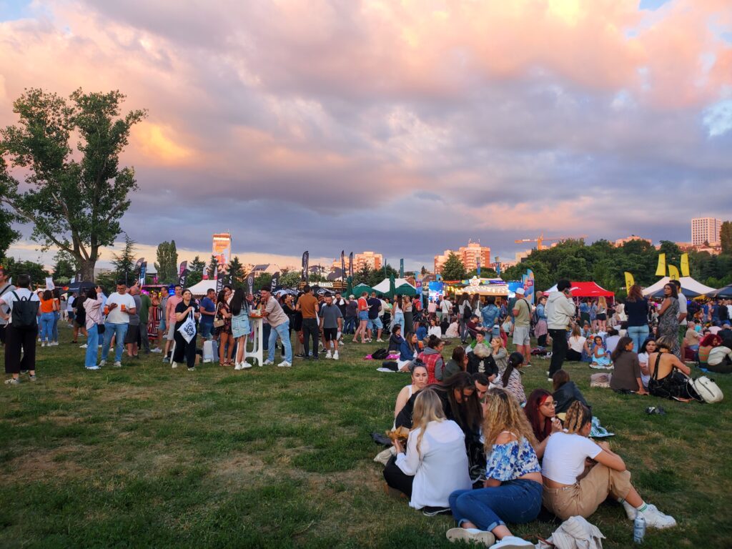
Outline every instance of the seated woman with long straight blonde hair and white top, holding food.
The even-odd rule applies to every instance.
[[[465,434],[445,417],[440,397],[433,390],[417,393],[406,448],[398,440],[394,448],[396,468],[384,468],[384,479],[408,496],[409,507],[445,509],[455,490],[472,488]]]

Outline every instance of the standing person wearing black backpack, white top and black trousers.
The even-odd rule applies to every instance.
[[[0,297],[0,317],[7,321],[5,329],[5,373],[12,377],[5,380],[6,385],[19,385],[20,372],[28,372],[29,379],[36,381],[36,337],[40,299],[30,291],[31,277],[20,275],[18,289]],[[8,307],[5,314],[3,307]],[[23,350],[23,358],[20,351]]]

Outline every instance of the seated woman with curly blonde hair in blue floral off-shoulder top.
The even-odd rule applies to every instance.
[[[483,435],[488,458],[485,488],[456,490],[450,495],[458,528],[449,529],[447,539],[496,549],[534,547],[506,526],[506,522],[529,523],[537,518],[542,507],[542,476],[534,452],[534,431],[518,401],[504,389],[488,392]],[[491,545],[496,539],[500,541]]]

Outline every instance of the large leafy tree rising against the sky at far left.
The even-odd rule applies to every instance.
[[[94,280],[100,247],[119,235],[119,220],[137,189],[135,171],[119,165],[130,129],[146,111],[120,117],[119,91],[85,94],[68,100],[42,89],[26,89],[13,102],[18,124],[0,130],[0,201],[33,223],[31,238],[45,248],[70,253],[83,280]],[[76,141],[76,146],[72,144]],[[20,190],[11,168],[23,171]]]

